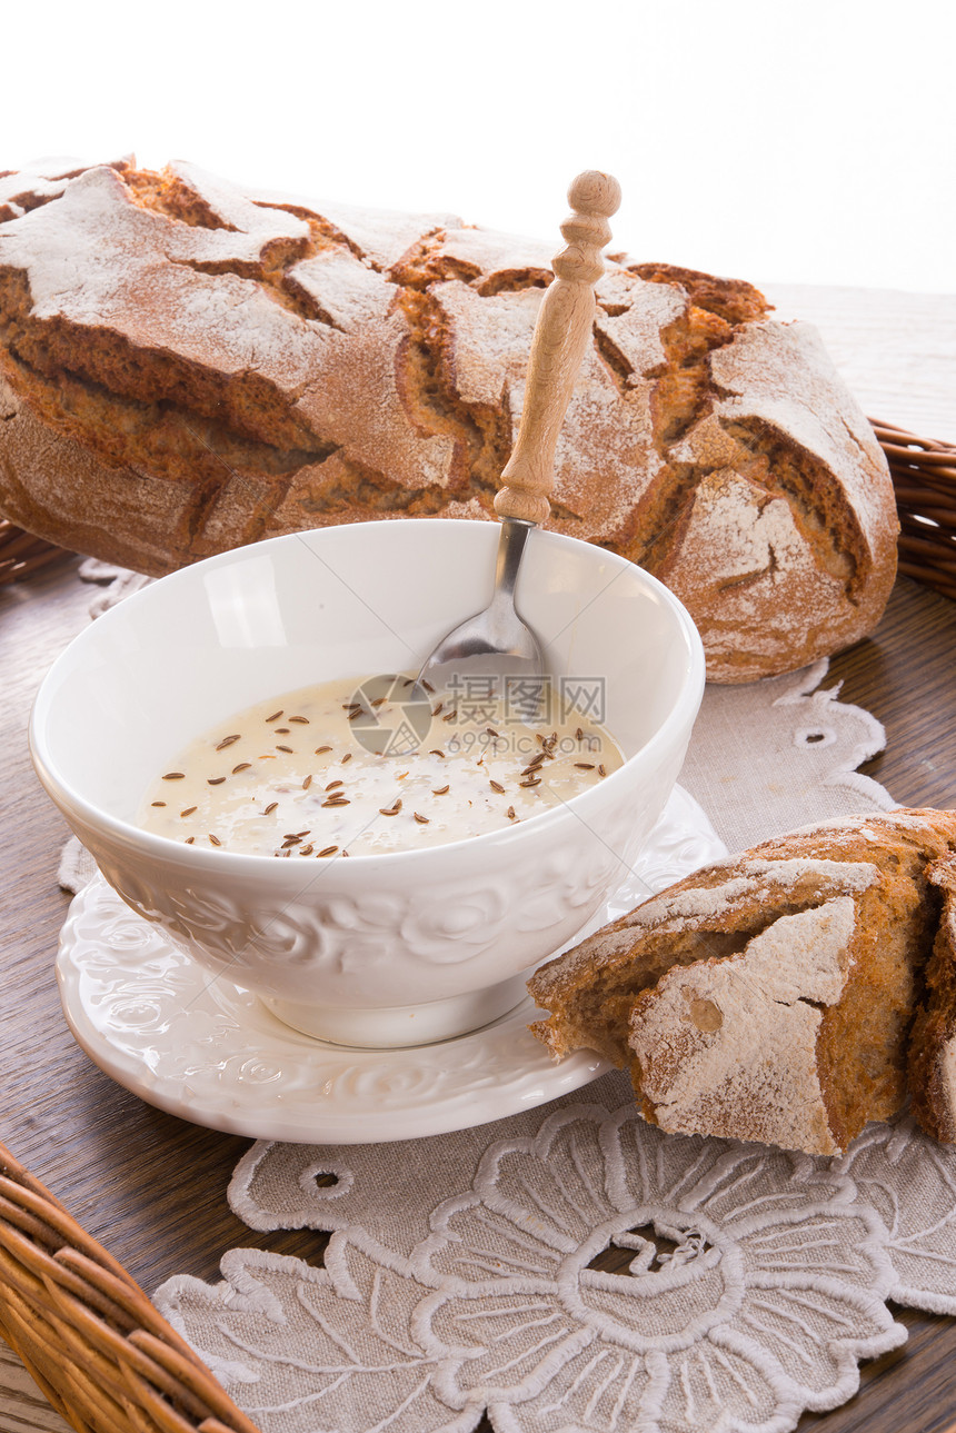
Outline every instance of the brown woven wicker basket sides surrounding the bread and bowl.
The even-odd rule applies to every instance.
[[[956,599],[956,449],[873,424],[900,572]],[[72,555],[0,520],[0,583]],[[0,1336],[77,1433],[257,1433],[126,1271],[0,1145]]]

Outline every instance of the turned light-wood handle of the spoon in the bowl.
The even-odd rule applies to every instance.
[[[591,338],[601,251],[611,239],[608,219],[621,203],[621,185],[588,169],[572,182],[568,201],[573,214],[560,226],[568,248],[555,255],[556,278],[537,312],[517,441],[494,499],[499,517],[529,523],[545,522],[550,512],[555,447]]]

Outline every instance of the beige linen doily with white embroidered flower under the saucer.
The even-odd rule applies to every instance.
[[[730,850],[893,805],[826,669],[708,689],[681,781]],[[433,1139],[259,1142],[229,1199],[331,1232],[324,1268],[232,1250],[156,1294],[262,1433],[784,1433],[904,1341],[887,1300],[956,1313],[956,1151],[907,1119],[840,1159],[662,1135],[618,1073]]]

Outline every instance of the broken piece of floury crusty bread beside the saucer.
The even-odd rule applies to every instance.
[[[903,1108],[909,1069],[953,1139],[955,851],[956,811],[904,810],[709,866],[543,966],[533,1030],[629,1068],[662,1129],[838,1154]]]

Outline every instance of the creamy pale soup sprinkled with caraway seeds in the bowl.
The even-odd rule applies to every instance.
[[[622,762],[573,706],[527,721],[500,698],[424,694],[408,676],[348,678],[219,722],[156,778],[139,821],[254,856],[370,856],[515,825]]]

